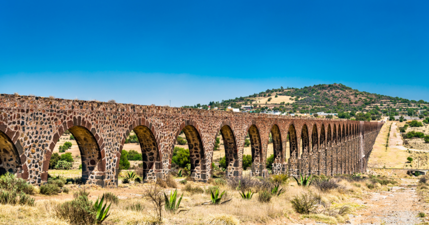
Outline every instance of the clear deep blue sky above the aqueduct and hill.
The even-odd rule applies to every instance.
[[[0,1],[0,93],[172,106],[342,83],[429,101],[429,1]]]

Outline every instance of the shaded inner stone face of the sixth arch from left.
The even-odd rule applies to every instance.
[[[247,130],[249,133],[250,146],[252,152],[252,175],[261,176],[266,165],[263,165],[262,159],[262,143],[259,135],[259,130],[256,125],[251,125]]]

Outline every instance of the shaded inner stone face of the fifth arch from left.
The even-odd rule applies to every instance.
[[[231,127],[227,124],[220,127],[220,135],[222,135],[223,146],[225,148],[225,165],[226,176],[240,176],[239,160],[235,135]]]

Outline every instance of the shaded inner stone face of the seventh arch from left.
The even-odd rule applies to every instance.
[[[273,174],[280,174],[281,173],[281,166],[284,162],[283,159],[283,143],[281,141],[281,134],[280,129],[277,124],[274,124],[271,127],[271,137],[272,137],[272,157],[273,162],[271,165],[271,171]],[[268,149],[270,149],[270,146],[268,146]],[[268,159],[271,157],[270,154],[267,154]]]

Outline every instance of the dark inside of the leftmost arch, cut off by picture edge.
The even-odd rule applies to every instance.
[[[0,175],[21,172],[21,160],[12,140],[0,131]]]

